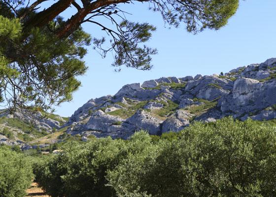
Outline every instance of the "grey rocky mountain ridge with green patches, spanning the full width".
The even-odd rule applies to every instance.
[[[0,143],[30,148],[66,137],[129,138],[135,131],[160,135],[181,131],[194,121],[226,116],[274,122],[276,58],[228,73],[162,77],[122,87],[114,96],[90,99],[69,118],[18,110],[0,115]],[[30,146],[32,145],[32,146]]]

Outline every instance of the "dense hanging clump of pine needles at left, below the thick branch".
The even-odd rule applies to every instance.
[[[82,58],[90,35],[78,29],[58,38],[53,31],[63,23],[60,18],[22,33],[19,19],[8,16],[0,15],[0,99],[10,108],[36,110],[71,100],[80,86],[76,76],[87,69]]]

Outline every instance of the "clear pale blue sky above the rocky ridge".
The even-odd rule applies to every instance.
[[[225,27],[196,35],[187,33],[183,27],[165,27],[161,15],[147,10],[145,3],[124,6],[132,13],[130,20],[148,22],[157,27],[147,43],[158,49],[158,55],[153,56],[154,67],[150,71],[123,68],[118,73],[111,66],[112,55],[102,59],[91,46],[85,57],[89,69],[85,76],[80,77],[82,87],[73,94],[71,102],[56,107],[55,113],[71,116],[89,99],[114,95],[125,84],[142,83],[162,76],[228,72],[238,66],[262,63],[276,57],[276,0],[242,0],[237,13]],[[63,16],[70,17],[71,11],[65,11]],[[91,24],[84,24],[83,28],[92,36],[103,36],[103,31],[97,31]]]

